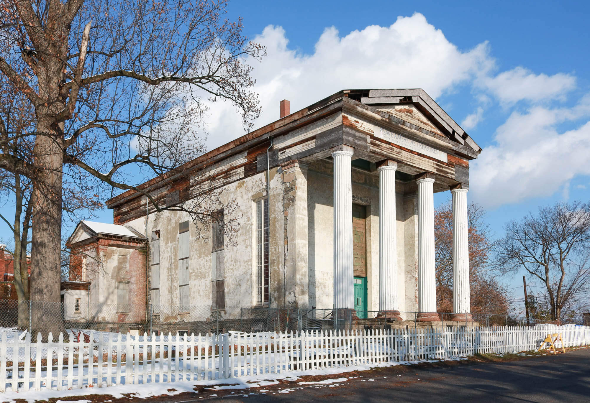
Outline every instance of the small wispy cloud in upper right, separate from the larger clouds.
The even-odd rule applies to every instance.
[[[565,95],[573,90],[576,78],[569,74],[534,74],[526,68],[516,67],[504,71],[496,77],[483,77],[480,85],[491,91],[503,103],[513,104],[527,100],[541,101],[565,100]]]

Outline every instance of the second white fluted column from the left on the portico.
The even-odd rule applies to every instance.
[[[386,161],[379,171],[379,316],[401,320],[396,289],[397,242],[395,227],[395,171]]]

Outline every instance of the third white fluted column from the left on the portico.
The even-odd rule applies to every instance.
[[[434,267],[434,179],[418,183],[418,321],[440,321]]]

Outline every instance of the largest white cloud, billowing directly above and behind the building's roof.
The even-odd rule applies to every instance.
[[[256,127],[277,120],[278,102],[283,99],[291,101],[294,112],[346,88],[423,88],[436,98],[493,65],[487,43],[460,51],[422,14],[344,36],[326,28],[313,54],[290,48],[281,27],[266,27],[254,41],[268,52],[262,62],[253,62],[254,91],[263,107]],[[211,105],[208,123],[209,150],[244,134],[227,103]]]

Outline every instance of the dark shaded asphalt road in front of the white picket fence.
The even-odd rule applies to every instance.
[[[497,364],[457,365],[453,368],[379,370],[338,386],[290,385],[289,393],[269,388],[235,391],[223,398],[195,395],[185,402],[590,402],[590,348],[558,356],[542,356]],[[359,372],[358,374],[363,374]],[[357,375],[358,375],[357,374]],[[339,375],[339,376],[344,376]],[[372,378],[371,378],[372,376]],[[338,376],[335,376],[336,378]],[[374,380],[370,380],[374,379]],[[284,387],[286,385],[277,385]],[[251,393],[247,397],[238,393]],[[172,401],[172,400],[171,400]],[[179,400],[176,400],[179,403]]]

